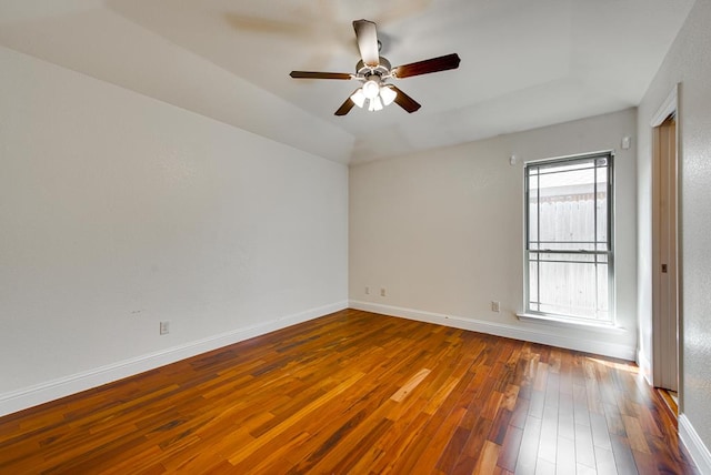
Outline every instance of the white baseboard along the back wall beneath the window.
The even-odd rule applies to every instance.
[[[633,346],[608,343],[604,341],[591,341],[585,337],[588,334],[584,334],[581,337],[563,336],[542,330],[531,330],[530,327],[522,327],[505,323],[463,319],[461,316],[382,305],[372,302],[350,301],[349,306],[351,309],[381,313],[383,315],[399,316],[425,323],[435,323],[438,325],[453,326],[455,329],[470,330],[472,332],[523,340],[527,342],[541,343],[544,345],[559,346],[562,348],[594,353],[628,361],[634,361],[634,356],[637,354],[637,348]]]

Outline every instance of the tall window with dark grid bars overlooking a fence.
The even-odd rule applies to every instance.
[[[612,153],[525,165],[527,313],[613,322]]]

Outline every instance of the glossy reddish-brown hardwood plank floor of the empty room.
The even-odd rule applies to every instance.
[[[633,364],[347,310],[0,418],[0,473],[695,473]]]

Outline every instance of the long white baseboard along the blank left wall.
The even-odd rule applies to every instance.
[[[231,332],[189,342],[171,348],[161,350],[130,360],[72,374],[36,384],[33,386],[0,394],[0,416],[26,410],[39,404],[76,394],[102,384],[122,380],[149,370],[154,370],[180,360],[228,346],[297,323],[307,322],[329,313],[347,309],[348,302],[337,302],[292,315],[273,319],[258,325],[238,329]]]

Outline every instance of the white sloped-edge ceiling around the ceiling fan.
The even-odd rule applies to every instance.
[[[693,0],[3,0],[0,44],[343,163],[637,105]],[[408,114],[336,109],[352,20],[393,65],[459,53],[398,87]]]

